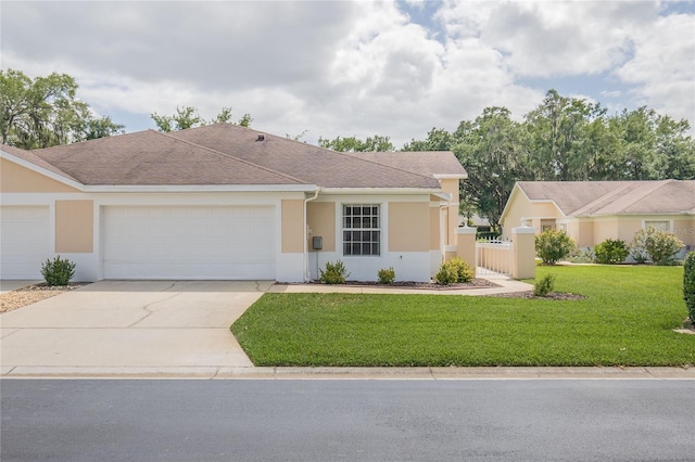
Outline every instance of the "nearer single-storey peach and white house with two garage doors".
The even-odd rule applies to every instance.
[[[305,281],[343,260],[427,281],[455,255],[450,152],[338,153],[229,124],[0,146],[0,277]]]

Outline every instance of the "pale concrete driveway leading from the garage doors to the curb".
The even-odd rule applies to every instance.
[[[96,282],[1,315],[1,372],[249,368],[229,325],[271,284]]]

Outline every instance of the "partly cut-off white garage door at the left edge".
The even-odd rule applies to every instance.
[[[52,257],[48,207],[3,205],[0,222],[0,279],[42,280]]]

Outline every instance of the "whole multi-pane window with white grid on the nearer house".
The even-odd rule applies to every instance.
[[[343,204],[343,255],[381,255],[379,204]]]

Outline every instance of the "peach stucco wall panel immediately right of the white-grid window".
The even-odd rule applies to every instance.
[[[430,242],[427,202],[389,203],[389,252],[427,252]]]

